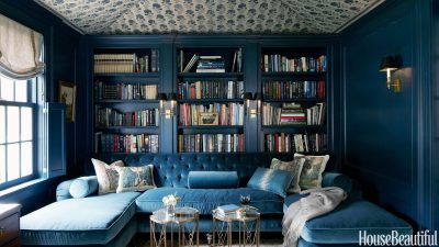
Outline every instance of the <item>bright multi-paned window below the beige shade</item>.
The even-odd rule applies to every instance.
[[[0,75],[0,190],[37,173],[36,78],[11,80]]]

